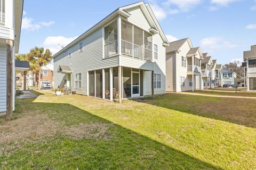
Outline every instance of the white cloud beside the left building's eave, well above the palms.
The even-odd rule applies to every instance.
[[[43,21],[43,22],[35,23],[33,18],[24,17],[24,18],[22,18],[21,29],[34,31],[34,30],[38,30],[42,27],[51,26],[53,24],[54,24],[54,21],[49,21],[49,22]]]

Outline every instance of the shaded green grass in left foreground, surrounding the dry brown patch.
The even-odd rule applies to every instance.
[[[111,137],[74,140],[57,135],[39,144],[31,142],[14,150],[11,156],[0,156],[6,169],[221,169],[70,104],[33,101],[19,100],[20,112],[16,114],[22,116],[30,108],[33,114],[47,114],[65,126],[107,123],[111,125]],[[35,154],[38,150],[41,152]]]

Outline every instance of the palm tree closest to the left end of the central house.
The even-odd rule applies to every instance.
[[[37,70],[37,73],[38,73],[37,88],[41,89],[41,85],[39,84],[41,82],[41,67],[51,62],[52,53],[50,52],[49,49],[44,50],[44,47],[36,46],[32,48],[28,53],[28,59],[29,61],[33,61],[35,65],[38,64],[39,66],[39,69]]]

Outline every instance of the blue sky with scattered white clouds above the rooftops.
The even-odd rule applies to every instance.
[[[96,3],[97,2],[97,3]],[[138,1],[25,0],[20,53],[58,52],[120,6]],[[256,0],[148,0],[169,41],[190,37],[218,63],[241,60],[256,44]],[[60,44],[60,46],[58,45]]]

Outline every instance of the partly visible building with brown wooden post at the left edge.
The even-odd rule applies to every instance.
[[[6,112],[7,119],[14,110],[14,56],[19,52],[22,11],[22,0],[0,1],[0,112]]]

